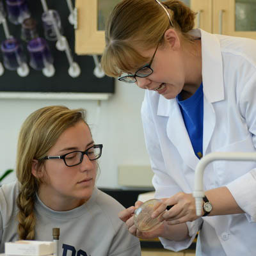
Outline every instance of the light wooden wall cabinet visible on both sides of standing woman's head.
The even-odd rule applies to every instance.
[[[102,54],[104,25],[121,0],[76,0],[76,54]],[[197,12],[195,28],[256,39],[256,0],[183,0]]]

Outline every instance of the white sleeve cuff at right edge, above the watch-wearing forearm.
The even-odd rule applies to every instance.
[[[237,204],[246,213],[249,221],[256,222],[256,169],[227,185]]]

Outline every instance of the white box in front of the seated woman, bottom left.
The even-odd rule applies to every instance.
[[[4,254],[19,256],[46,256],[54,253],[54,242],[19,240],[4,243]]]

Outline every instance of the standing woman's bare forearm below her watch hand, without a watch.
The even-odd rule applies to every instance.
[[[189,237],[186,223],[168,225],[164,223],[164,233],[160,237],[173,241],[182,241]]]

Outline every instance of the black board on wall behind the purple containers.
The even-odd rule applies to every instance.
[[[1,0],[0,0],[1,1]],[[6,10],[5,0],[4,8]],[[40,37],[45,38],[44,29],[42,25],[42,3],[40,0],[27,0],[31,17],[36,20],[36,28]],[[29,75],[20,77],[16,70],[7,70],[4,68],[3,76],[0,76],[0,92],[76,92],[76,93],[114,93],[115,85],[112,77],[104,76],[98,78],[93,74],[95,63],[93,56],[78,56],[74,52],[74,26],[68,22],[67,1],[65,0],[46,0],[49,9],[56,10],[60,14],[61,25],[63,28],[63,36],[66,36],[74,61],[76,61],[81,68],[79,77],[71,77],[68,74],[68,60],[65,51],[58,51],[56,49],[56,41],[49,41],[52,56],[54,58],[55,74],[52,77],[45,77],[40,70],[34,70],[29,66]],[[74,6],[74,0],[72,1]],[[27,50],[27,43],[20,39],[21,25],[12,24],[6,17],[10,35],[18,38],[24,48],[29,63],[29,54]],[[5,40],[4,29],[0,24],[0,41]],[[3,56],[0,52],[0,61],[3,63]]]

